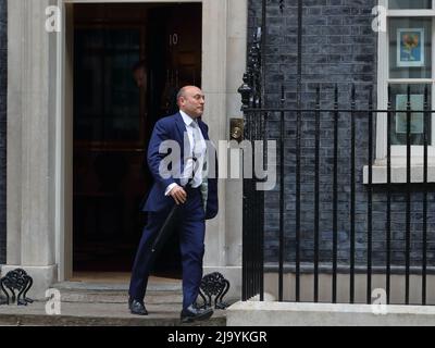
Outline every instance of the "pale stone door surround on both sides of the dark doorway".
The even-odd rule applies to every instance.
[[[112,0],[8,1],[7,265],[33,275],[34,297],[72,274],[73,3]],[[127,2],[127,1],[125,1]],[[129,0],[202,3],[204,121],[213,141],[228,139],[243,117],[237,88],[246,67],[247,0]],[[46,30],[46,9],[61,10],[60,33]],[[70,11],[69,11],[70,10]],[[208,223],[204,272],[241,284],[241,181],[220,181],[220,214]],[[234,285],[234,286],[233,286]],[[32,295],[32,294],[30,294]]]

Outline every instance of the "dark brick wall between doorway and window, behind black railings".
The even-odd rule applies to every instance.
[[[312,107],[315,87],[322,88],[323,108],[331,108],[334,85],[338,85],[339,104],[349,107],[351,84],[357,87],[358,108],[368,108],[370,87],[376,99],[377,35],[371,28],[372,8],[375,0],[304,0],[302,50],[302,107]],[[281,86],[286,90],[286,107],[294,107],[297,78],[297,1],[268,1],[268,30],[265,49],[266,107],[278,107]],[[249,3],[249,33],[261,23],[261,1]],[[279,136],[278,114],[271,114],[269,138]],[[332,261],[333,250],[333,117],[323,114],[321,121],[321,184],[320,184],[320,249],[321,262]],[[285,260],[295,260],[295,114],[286,114],[285,139]],[[350,251],[350,117],[339,119],[339,170],[338,170],[338,260],[349,263]],[[366,264],[366,188],[362,184],[362,166],[368,164],[368,117],[357,119],[357,264]],[[375,126],[374,126],[375,129]],[[301,138],[301,258],[313,259],[314,231],[314,115],[302,114]],[[278,182],[279,183],[279,182]],[[278,185],[265,195],[265,260],[274,263],[278,254]],[[428,211],[435,211],[434,195],[430,194]],[[411,265],[421,260],[422,194],[412,194]],[[386,195],[376,188],[373,195],[373,264],[385,264],[385,211]],[[393,261],[405,263],[405,192],[398,189],[393,196]],[[431,215],[431,214],[430,214]],[[428,228],[434,231],[434,216]],[[431,235],[430,235],[431,236]],[[434,259],[434,236],[428,245],[428,260]]]

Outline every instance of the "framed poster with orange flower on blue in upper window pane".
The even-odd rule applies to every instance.
[[[424,29],[397,29],[397,66],[424,66]]]

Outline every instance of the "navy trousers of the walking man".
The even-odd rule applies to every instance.
[[[148,212],[148,223],[136,252],[129,284],[129,296],[142,300],[147,291],[148,276],[152,268],[151,246],[163,225],[167,212]],[[179,248],[183,266],[183,309],[194,303],[198,297],[202,278],[204,253],[206,214],[201,192],[190,189],[187,200],[179,210]]]

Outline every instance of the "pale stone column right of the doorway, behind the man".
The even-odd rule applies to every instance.
[[[247,0],[203,1],[204,121],[216,146],[229,139],[229,119],[243,117],[237,89],[246,69],[247,16]],[[241,294],[241,179],[220,179],[220,212],[208,223],[206,235],[204,273],[223,273],[231,283],[231,298]]]

